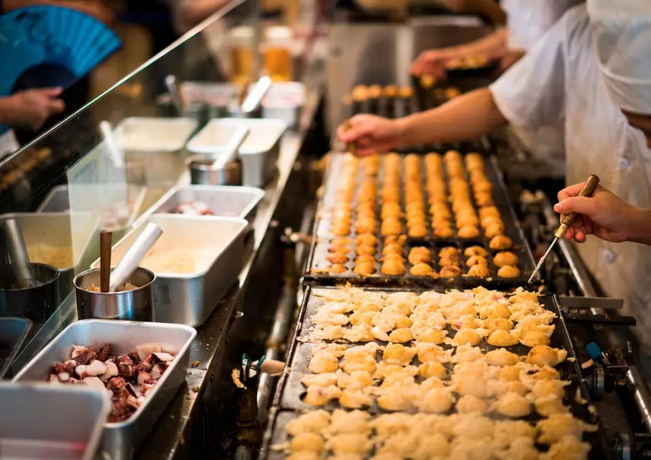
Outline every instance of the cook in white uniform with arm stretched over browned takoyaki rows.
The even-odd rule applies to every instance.
[[[566,181],[598,175],[622,201],[651,208],[651,2],[587,0],[567,11],[489,88],[419,114],[358,115],[342,142],[360,154],[477,138],[507,123],[530,129],[564,120]],[[561,212],[565,212],[562,209]],[[589,238],[578,252],[624,314],[651,369],[651,246]]]

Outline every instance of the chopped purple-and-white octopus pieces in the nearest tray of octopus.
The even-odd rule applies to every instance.
[[[130,418],[169,368],[174,356],[158,344],[136,346],[134,353],[112,356],[110,345],[73,345],[69,360],[54,364],[50,383],[106,388],[111,396],[108,422]]]

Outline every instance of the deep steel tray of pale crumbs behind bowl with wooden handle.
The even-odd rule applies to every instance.
[[[179,214],[149,216],[113,246],[114,263],[123,257],[147,222],[163,230],[160,240],[153,246],[153,253],[203,249],[206,260],[210,259],[205,270],[191,274],[152,270],[156,273],[154,319],[195,327],[203,324],[242,271],[248,222],[240,218]],[[99,259],[93,263],[93,268],[97,267]]]

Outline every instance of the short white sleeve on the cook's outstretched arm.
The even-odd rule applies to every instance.
[[[566,14],[489,86],[495,105],[512,125],[550,125],[563,116],[567,21]]]

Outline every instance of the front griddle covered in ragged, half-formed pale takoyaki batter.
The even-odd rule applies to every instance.
[[[491,433],[493,433],[493,429],[498,429],[497,420],[524,420],[529,426],[538,424],[539,428],[535,432],[537,434],[534,435],[534,439],[538,436],[537,448],[541,451],[547,450],[548,444],[556,444],[561,441],[558,435],[554,435],[558,437],[550,437],[550,435],[544,434],[549,430],[548,426],[551,423],[543,421],[545,419],[552,420],[554,426],[556,423],[564,423],[575,428],[582,427],[577,429],[578,431],[570,430],[572,433],[580,434],[583,429],[594,431],[594,426],[582,424],[583,422],[594,423],[595,417],[587,399],[584,399],[587,390],[577,379],[579,370],[573,361],[573,348],[566,346],[568,342],[566,342],[565,324],[561,318],[554,318],[558,314],[558,306],[551,297],[541,298],[543,305],[537,306],[538,304],[534,300],[535,294],[524,294],[523,292],[507,299],[501,294],[480,289],[476,290],[475,294],[452,294],[458,298],[458,302],[450,303],[441,300],[448,298],[449,294],[443,297],[434,292],[419,296],[406,292],[373,291],[375,294],[368,294],[368,297],[365,297],[366,303],[379,303],[381,314],[390,311],[395,313],[399,309],[405,309],[403,311],[405,314],[402,316],[410,318],[412,326],[409,329],[415,336],[413,338],[418,340],[413,342],[406,340],[408,337],[399,337],[404,333],[402,331],[404,328],[397,326],[404,327],[406,324],[394,324],[393,331],[391,331],[391,327],[385,328],[385,332],[390,334],[391,344],[384,340],[371,338],[371,341],[363,343],[351,344],[348,340],[337,340],[336,342],[326,340],[325,345],[317,345],[321,341],[317,340],[315,336],[324,337],[319,329],[328,331],[328,334],[332,334],[334,337],[337,336],[336,327],[328,329],[330,325],[326,323],[329,318],[332,322],[339,321],[341,324],[343,323],[340,320],[341,317],[339,314],[324,315],[323,311],[334,311],[336,306],[334,303],[347,302],[343,297],[347,295],[345,292],[345,290],[315,289],[306,294],[301,327],[297,331],[297,341],[294,342],[290,355],[289,368],[291,372],[283,377],[276,396],[276,404],[280,408],[315,410],[320,408],[317,405],[321,405],[328,411],[347,407],[348,409],[362,408],[368,413],[378,415],[390,412],[419,414],[417,417],[421,418],[413,419],[417,426],[426,423],[422,417],[429,417],[428,424],[444,417],[447,418],[446,423],[450,426],[455,426],[460,423],[460,420],[471,419],[471,422],[467,422],[469,426],[489,425],[487,429]],[[319,297],[323,294],[326,295],[326,299]],[[366,294],[364,295],[366,296]],[[464,304],[463,300],[464,297],[469,299],[473,295],[476,297],[475,305],[484,305],[483,309],[476,310],[477,313],[474,316],[469,314],[469,310],[464,310],[470,304]],[[417,298],[421,300],[415,300]],[[482,298],[490,300],[490,302],[482,303]],[[451,300],[448,298],[448,301]],[[408,311],[409,302],[413,302],[413,310],[410,313]],[[330,307],[324,309],[323,305],[326,303]],[[490,330],[482,329],[486,329],[485,327],[488,326],[493,332],[501,330],[495,329],[500,327],[500,322],[495,322],[495,318],[506,316],[508,311],[503,308],[506,305],[508,305],[508,311],[511,312],[511,318],[508,319],[513,322],[511,336],[517,337],[519,343],[516,340],[514,346],[500,348],[487,343],[486,337],[489,337],[488,340],[495,344],[499,344],[499,341],[493,340],[494,337]],[[370,311],[372,314],[375,310],[370,305],[366,305],[345,315],[351,322],[352,316],[359,316],[358,314],[364,311]],[[435,314],[435,311],[432,310],[443,312],[443,316]],[[495,318],[492,318],[491,314],[495,315]],[[530,318],[532,314],[542,320],[542,323],[533,329],[531,327],[532,318]],[[452,322],[447,322],[446,318],[452,318]],[[474,325],[484,327],[472,329],[471,320],[474,321]],[[485,320],[491,320],[491,324]],[[545,326],[547,321],[552,327]],[[439,322],[438,327],[434,327],[436,322]],[[492,324],[493,322],[495,324]],[[315,324],[319,326],[316,329]],[[358,324],[360,323],[356,322],[352,327],[357,327]],[[349,331],[351,326],[344,324],[343,328]],[[504,329],[507,328],[504,327]],[[394,335],[399,330],[401,332]],[[541,333],[533,333],[532,331],[535,330]],[[441,337],[432,334],[433,331],[442,332]],[[478,341],[475,342],[472,337],[474,332],[483,337],[478,337]],[[461,337],[462,335],[463,337]],[[346,337],[351,339],[349,335]],[[549,346],[544,345],[545,343],[548,343]],[[319,347],[319,350],[312,353],[315,347]],[[350,350],[353,347],[356,348]],[[415,349],[411,353],[407,353],[410,348]],[[570,361],[565,359],[567,350],[569,350]],[[333,351],[334,353],[332,353]],[[332,356],[325,356],[324,352],[326,355]],[[334,357],[334,361],[332,357]],[[554,366],[556,370],[554,370]],[[482,370],[476,373],[478,368]],[[372,383],[365,381],[364,374],[370,374],[373,379]],[[539,383],[540,381],[543,383]],[[310,389],[306,390],[306,386]],[[318,391],[312,392],[312,387]],[[561,394],[565,395],[562,403]],[[306,401],[311,404],[306,404]],[[568,409],[571,411],[569,413],[576,418],[569,416]],[[426,416],[426,413],[430,415]],[[284,424],[291,418],[295,418],[295,413],[280,411],[278,420],[273,426],[271,444],[287,440],[284,434]],[[563,433],[561,430],[561,434]],[[447,436],[445,445],[449,444],[451,448],[455,448],[455,445],[458,444],[455,437],[463,438],[463,435]],[[371,453],[384,452],[382,446],[386,439],[373,438],[370,441],[369,439],[369,437],[365,438],[363,444],[369,442],[371,447],[363,452],[358,452],[362,454],[362,457],[356,458],[370,457]],[[593,444],[592,455],[596,455],[594,458],[605,458],[600,457],[601,438],[598,434],[587,433],[584,439]],[[531,446],[531,444],[533,443],[528,445]],[[336,444],[332,444],[332,439],[326,439],[325,445],[326,450],[336,453],[336,447],[333,447]],[[574,443],[573,446],[580,448],[582,444]],[[552,446],[550,452],[556,452],[562,447],[563,445]],[[456,450],[451,452],[454,452],[456,456],[452,455],[449,458],[464,458],[458,457],[460,452]],[[365,453],[368,455],[365,456]],[[505,455],[505,452],[501,452],[502,454]],[[271,453],[269,457],[280,458],[282,455]],[[399,455],[388,458],[403,457]],[[430,455],[430,457],[408,456],[408,458],[438,457]],[[486,458],[506,457],[489,455]],[[550,455],[550,457],[541,458],[566,457]]]

